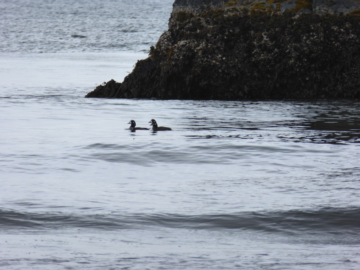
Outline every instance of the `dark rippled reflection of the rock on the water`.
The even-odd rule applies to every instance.
[[[360,139],[357,101],[194,102],[188,139],[249,139],[348,144]],[[224,111],[226,108],[226,111]],[[191,127],[189,127],[191,123]],[[199,134],[200,133],[200,134]]]

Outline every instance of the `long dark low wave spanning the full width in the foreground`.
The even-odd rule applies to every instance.
[[[63,213],[24,213],[0,210],[0,224],[5,228],[63,228],[64,226],[100,230],[140,229],[165,226],[191,229],[256,230],[285,234],[358,235],[359,207],[323,207],[318,210],[259,211],[228,214],[177,215],[116,214],[69,215]]]

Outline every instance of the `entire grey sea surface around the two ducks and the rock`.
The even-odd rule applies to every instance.
[[[171,5],[0,3],[0,269],[359,269],[357,100],[84,98]]]

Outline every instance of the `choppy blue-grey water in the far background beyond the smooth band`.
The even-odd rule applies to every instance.
[[[1,0],[0,52],[148,51],[172,0]]]

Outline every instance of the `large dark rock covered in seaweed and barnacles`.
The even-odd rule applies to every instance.
[[[359,98],[359,8],[357,0],[176,0],[149,57],[86,97]]]

